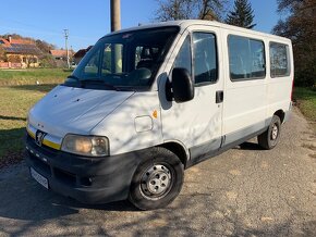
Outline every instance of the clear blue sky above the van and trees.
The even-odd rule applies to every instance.
[[[255,14],[254,28],[270,33],[280,16],[277,0],[250,0]],[[233,5],[233,0],[230,0]],[[0,35],[20,34],[64,48],[63,29],[69,29],[69,46],[75,51],[94,45],[110,32],[110,0],[15,0],[0,3]],[[121,0],[122,28],[150,23],[155,0]]]

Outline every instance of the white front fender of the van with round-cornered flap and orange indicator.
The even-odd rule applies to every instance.
[[[90,134],[109,138],[111,155],[162,144],[158,92],[135,92]]]

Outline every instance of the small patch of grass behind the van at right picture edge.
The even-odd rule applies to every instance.
[[[293,99],[316,130],[316,89],[295,87]]]

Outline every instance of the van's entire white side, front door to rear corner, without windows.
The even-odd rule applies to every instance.
[[[216,33],[219,80],[214,85],[196,87],[195,98],[192,101],[168,102],[163,99],[166,80],[169,79],[173,61],[186,37],[185,34],[194,30]],[[289,114],[293,78],[293,53],[290,40],[247,30],[203,25],[190,26],[185,34],[175,46],[158,80],[163,142],[181,141],[190,150],[191,158],[194,159],[205,153],[211,155],[263,133],[277,111],[281,110],[285,115]],[[231,79],[228,48],[230,35],[262,42],[264,46],[263,59],[265,60],[264,76],[239,82]],[[291,73],[287,77],[271,78],[269,53],[271,41],[289,46]],[[223,90],[223,103],[221,104],[216,104],[212,100],[217,90]]]

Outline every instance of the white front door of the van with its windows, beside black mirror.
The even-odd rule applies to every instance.
[[[216,151],[221,145],[222,91],[219,30],[195,26],[189,28],[178,47],[172,68],[184,67],[194,80],[194,98],[161,108],[165,142],[175,140],[190,149],[191,159]],[[175,48],[175,49],[177,49]],[[169,78],[172,78],[172,68]]]

